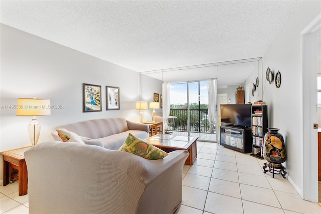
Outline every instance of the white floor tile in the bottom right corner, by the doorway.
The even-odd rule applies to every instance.
[[[302,200],[298,194],[280,191],[274,192],[283,209],[301,213],[321,213],[321,206],[318,203]]]

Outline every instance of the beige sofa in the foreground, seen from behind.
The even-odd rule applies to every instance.
[[[75,142],[37,144],[25,152],[29,212],[174,213],[188,155],[173,151],[147,160]]]

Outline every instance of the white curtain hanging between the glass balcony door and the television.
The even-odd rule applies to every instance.
[[[209,121],[210,121],[210,133],[214,133],[214,123],[216,119],[216,105],[217,105],[217,79],[211,78],[207,82],[208,95],[209,95]]]

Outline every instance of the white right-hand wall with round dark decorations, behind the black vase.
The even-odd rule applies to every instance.
[[[279,70],[280,88],[266,84],[263,100],[268,104],[269,127],[280,129],[286,143],[285,164],[288,179],[300,192],[302,161],[300,151],[300,32],[321,12],[320,1],[303,1],[284,30],[278,35],[263,57],[263,73],[269,67]],[[304,96],[304,94],[303,94]],[[315,148],[317,149],[317,148]]]

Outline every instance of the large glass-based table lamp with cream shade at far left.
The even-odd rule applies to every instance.
[[[40,135],[40,123],[36,116],[50,115],[50,100],[35,98],[19,98],[17,104],[17,116],[32,116],[32,121],[28,126],[31,144],[38,143]]]

